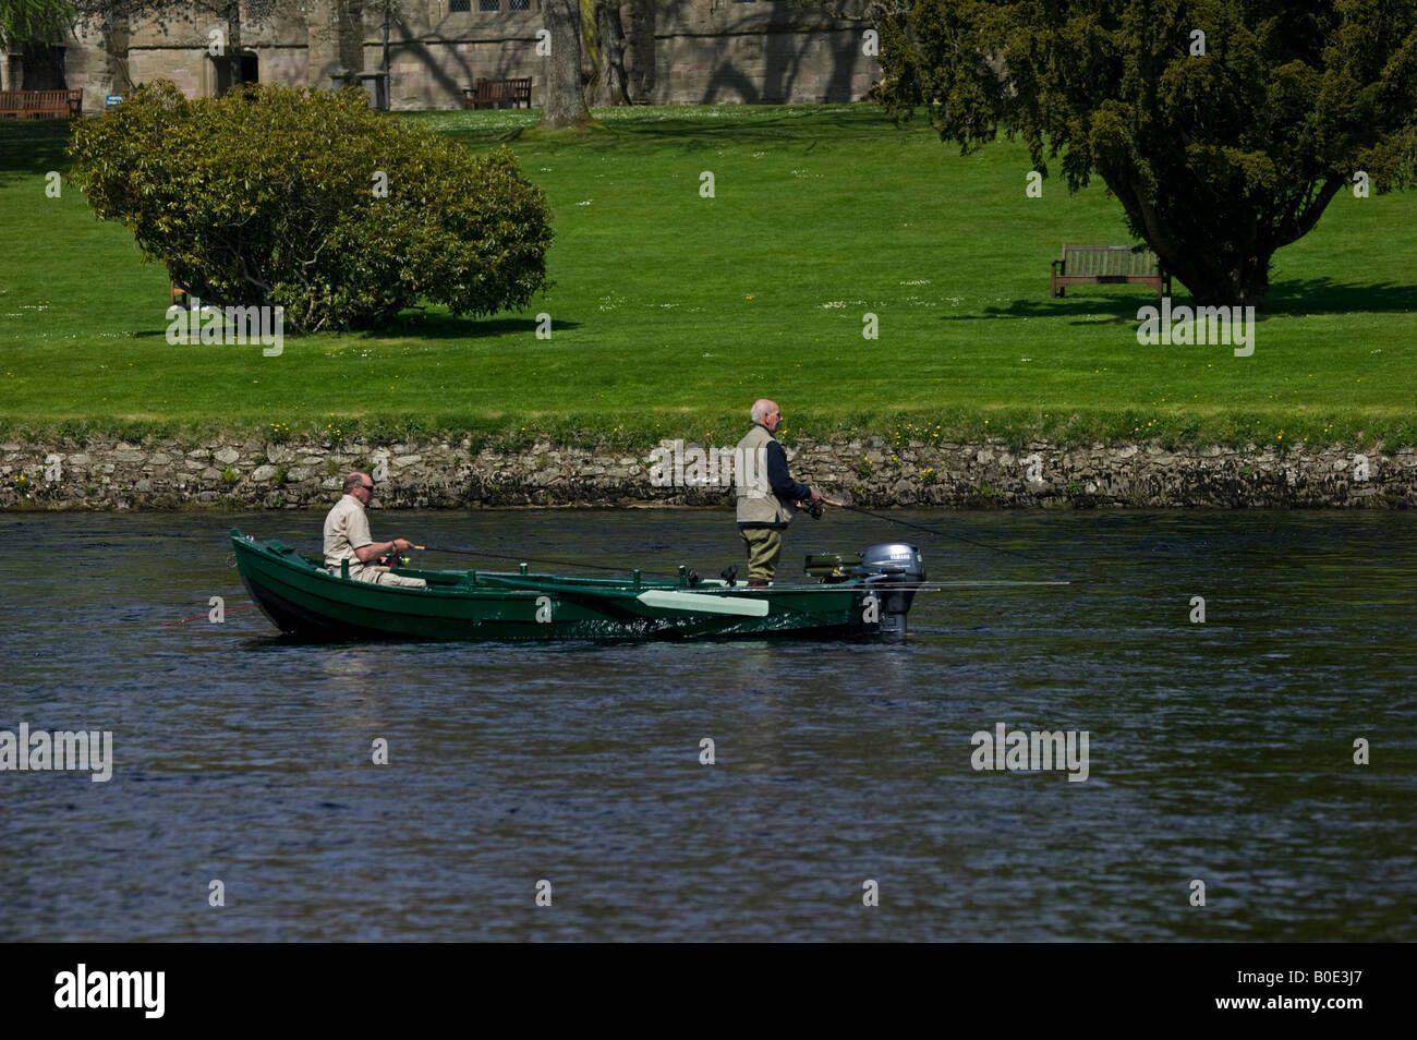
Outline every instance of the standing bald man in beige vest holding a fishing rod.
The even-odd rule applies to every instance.
[[[822,493],[799,485],[788,472],[788,453],[772,436],[782,425],[782,409],[767,398],[755,401],[752,429],[734,453],[738,489],[738,534],[748,547],[748,588],[772,581],[782,555],[782,531],[802,500],[818,502]]]

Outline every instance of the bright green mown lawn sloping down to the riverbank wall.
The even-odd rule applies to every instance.
[[[733,443],[769,395],[788,439],[1417,443],[1417,196],[1339,196],[1278,254],[1240,358],[1139,346],[1139,286],[1050,299],[1064,241],[1128,235],[1100,183],[1027,198],[1022,146],[964,159],[869,105],[597,116],[606,130],[580,137],[523,133],[536,112],[401,116],[513,147],[551,201],[555,286],[516,315],[289,336],[281,357],[170,346],[166,271],[78,188],[45,197],[67,125],[0,126],[0,432]]]

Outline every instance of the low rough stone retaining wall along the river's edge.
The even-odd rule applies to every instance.
[[[684,455],[682,475],[697,476]],[[803,441],[789,456],[799,480],[860,506],[1417,506],[1414,449]],[[317,509],[353,468],[387,479],[381,507],[733,502],[727,486],[655,486],[649,453],[623,449],[154,439],[0,443],[0,509]]]

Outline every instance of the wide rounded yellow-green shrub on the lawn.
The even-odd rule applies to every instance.
[[[357,89],[191,101],[159,79],[79,122],[69,152],[95,213],[180,285],[283,306],[295,330],[381,327],[419,299],[492,315],[550,285],[546,196],[512,153],[469,156]]]

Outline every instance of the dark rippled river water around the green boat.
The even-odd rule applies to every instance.
[[[904,645],[310,646],[225,531],[319,514],[0,516],[0,730],[113,734],[108,782],[0,772],[0,939],[1417,939],[1417,517],[893,516],[1022,555],[829,514],[785,560],[1073,584],[922,597]],[[740,555],[727,513],[373,527]],[[999,724],[1087,731],[1087,778],[973,768]]]

